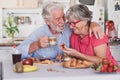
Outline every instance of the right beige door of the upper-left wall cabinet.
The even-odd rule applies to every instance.
[[[19,2],[19,8],[37,8],[38,0],[21,0]]]

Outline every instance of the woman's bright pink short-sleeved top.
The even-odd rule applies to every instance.
[[[105,35],[103,39],[96,39],[95,36],[92,34],[91,37],[89,37],[89,35],[85,36],[84,38],[80,38],[80,36],[72,33],[71,35],[71,47],[73,49],[76,49],[77,51],[86,54],[86,55],[90,55],[90,56],[94,56],[94,47],[99,46],[101,44],[108,44],[108,37]],[[112,60],[114,62],[114,64],[118,64],[117,61],[113,58],[113,56],[111,55],[110,52],[110,48],[109,45],[107,46],[107,58],[109,60]]]

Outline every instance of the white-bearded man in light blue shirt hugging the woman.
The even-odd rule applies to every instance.
[[[43,6],[42,16],[46,24],[34,31],[17,49],[22,53],[22,58],[31,56],[61,59],[60,56],[57,56],[63,53],[60,45],[64,43],[70,47],[71,35],[69,25],[65,23],[63,7],[57,2],[48,2]],[[97,23],[92,23],[91,28],[95,35],[96,32],[101,33],[102,28]],[[49,45],[51,36],[56,37],[56,45]]]

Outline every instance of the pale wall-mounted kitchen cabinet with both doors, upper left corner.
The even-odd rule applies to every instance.
[[[38,0],[0,0],[0,8],[37,8]]]

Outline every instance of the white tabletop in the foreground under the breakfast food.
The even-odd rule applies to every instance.
[[[120,72],[99,73],[91,68],[67,69],[60,64],[35,65],[39,67],[38,71],[15,73],[11,60],[6,60],[3,62],[3,80],[120,80]],[[49,68],[56,69],[59,72],[47,71]]]

